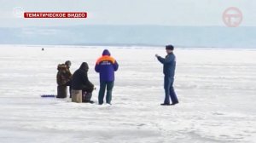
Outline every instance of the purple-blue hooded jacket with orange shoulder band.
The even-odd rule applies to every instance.
[[[113,82],[114,72],[119,68],[119,64],[110,56],[108,49],[105,49],[96,61],[95,71],[100,73],[100,82]]]

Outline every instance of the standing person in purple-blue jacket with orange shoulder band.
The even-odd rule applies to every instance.
[[[112,89],[114,82],[114,72],[119,68],[119,65],[113,57],[110,56],[108,49],[104,49],[102,57],[96,61],[95,71],[100,73],[100,91],[99,105],[103,104],[103,98],[107,87],[106,102],[111,105]]]

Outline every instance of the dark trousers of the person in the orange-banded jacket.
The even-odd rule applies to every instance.
[[[100,91],[99,91],[99,96],[98,96],[98,100],[99,100],[99,104],[100,104],[100,105],[103,104],[103,99],[104,99],[106,87],[107,87],[106,102],[107,102],[108,104],[111,104],[113,82],[101,82]]]

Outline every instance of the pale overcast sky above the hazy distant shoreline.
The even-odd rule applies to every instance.
[[[256,26],[255,0],[0,0],[0,27],[74,25],[224,26],[224,10],[241,10]],[[20,10],[21,9],[21,10]],[[24,19],[25,12],[80,12],[87,19]]]

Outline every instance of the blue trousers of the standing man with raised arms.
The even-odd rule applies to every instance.
[[[177,100],[177,95],[175,94],[175,91],[173,89],[173,82],[174,78],[173,77],[167,77],[165,76],[165,93],[166,93],[166,98],[165,102],[166,104],[170,104],[170,97],[172,100],[172,104],[178,103]]]

